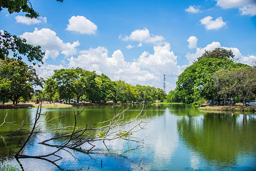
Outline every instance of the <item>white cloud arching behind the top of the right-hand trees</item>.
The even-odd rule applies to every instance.
[[[234,58],[238,59],[238,61],[240,61],[243,64],[252,65],[252,61],[256,60],[256,56],[253,56],[253,55],[243,56],[238,48],[221,46],[220,42],[218,42],[218,41],[217,42],[213,41],[212,43],[208,44],[204,48],[197,48],[195,53],[191,54],[188,52],[185,55],[185,57],[189,61],[189,65],[191,65],[191,64],[193,64],[194,61],[197,61],[197,58],[202,56],[202,54],[204,54],[205,51],[212,51],[215,48],[225,48],[227,50],[231,50],[233,52],[233,54],[235,55]]]

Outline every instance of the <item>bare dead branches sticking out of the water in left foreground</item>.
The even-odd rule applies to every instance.
[[[43,95],[43,97],[44,97],[44,95]],[[57,149],[55,151],[52,151],[48,154],[42,154],[42,155],[37,155],[37,156],[21,154],[21,151],[26,146],[28,141],[32,138],[32,135],[37,134],[37,133],[46,132],[46,130],[40,130],[40,128],[43,125],[48,124],[49,121],[57,118],[57,117],[54,117],[50,120],[49,120],[49,118],[47,118],[47,119],[40,121],[39,120],[40,116],[44,115],[44,114],[41,114],[41,107],[42,107],[42,101],[41,101],[41,104],[37,108],[36,117],[32,120],[32,121],[34,121],[33,124],[31,124],[31,122],[29,122],[29,121],[24,122],[24,120],[23,120],[23,122],[20,124],[20,128],[18,130],[15,130],[8,134],[8,135],[11,135],[12,133],[20,131],[20,130],[31,130],[27,140],[25,141],[23,146],[20,148],[18,153],[15,154],[16,158],[21,157],[21,158],[42,158],[43,159],[48,156],[56,156],[59,159],[61,159],[62,158],[61,156],[56,155],[56,153],[58,151],[60,151],[61,149],[69,148],[69,149],[74,149],[74,150],[79,150],[79,151],[84,151],[86,153],[89,153],[89,151],[95,147],[95,145],[93,145],[93,142],[95,142],[95,141],[103,141],[104,142],[104,140],[115,140],[118,138],[143,144],[143,139],[137,140],[137,139],[134,139],[131,135],[133,133],[138,132],[139,130],[145,129],[145,126],[149,122],[149,118],[146,117],[146,112],[144,115],[142,115],[142,112],[144,109],[144,104],[143,104],[141,111],[138,113],[138,115],[136,115],[136,117],[134,117],[131,120],[125,121],[126,117],[128,117],[128,116],[125,116],[125,112],[128,110],[128,108],[127,108],[121,112],[118,112],[112,118],[110,118],[108,120],[105,120],[105,121],[99,122],[99,123],[95,123],[95,124],[89,125],[89,126],[86,124],[83,128],[79,128],[77,130],[77,116],[84,111],[84,109],[85,109],[85,107],[84,107],[84,109],[77,114],[74,111],[74,126],[66,126],[66,127],[62,127],[62,128],[58,127],[56,129],[51,130],[51,131],[55,131],[55,130],[61,130],[64,128],[72,127],[73,128],[72,133],[57,136],[57,137],[52,137],[47,140],[39,142],[40,144],[43,144],[43,145],[56,147]],[[46,114],[46,116],[47,116],[47,114]],[[145,121],[143,121],[143,120],[137,121],[139,117],[146,117],[146,120]],[[28,125],[33,125],[33,128],[23,129],[24,126],[28,126]],[[68,139],[66,141],[64,141],[64,143],[59,144],[59,145],[46,143],[51,140],[56,140],[56,139],[65,138],[65,137]],[[89,150],[83,149],[81,146],[84,144],[89,144],[92,146],[92,148],[90,148]]]

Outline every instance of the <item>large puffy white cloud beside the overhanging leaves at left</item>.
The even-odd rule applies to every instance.
[[[44,56],[44,61],[49,58],[55,59],[59,56],[59,51],[65,56],[71,56],[77,54],[77,46],[80,45],[79,41],[74,41],[71,43],[64,43],[56,33],[49,28],[42,28],[30,32],[25,32],[20,35],[21,38],[26,38],[27,43],[33,44],[34,46],[40,45],[42,49],[45,50],[46,54]]]

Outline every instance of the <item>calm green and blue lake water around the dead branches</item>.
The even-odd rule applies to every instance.
[[[86,107],[77,117],[77,126],[84,127],[108,120],[120,109],[129,107],[125,120],[130,120],[140,112],[142,105],[106,105]],[[42,108],[41,119],[57,117],[44,125],[44,130],[74,125],[74,112],[82,107]],[[5,114],[6,120],[13,124],[0,127],[0,163],[20,165],[14,158],[26,140],[26,131],[20,131],[12,137],[5,136],[19,128],[24,118],[33,119],[36,108],[0,110],[0,124]],[[256,170],[256,115],[253,113],[209,112],[179,104],[148,104],[143,112],[146,116],[139,120],[150,122],[146,129],[131,135],[141,143],[126,140],[106,140],[95,142],[90,153],[74,150],[61,150],[57,154],[61,160],[51,163],[36,158],[20,158],[25,171],[55,170]],[[17,125],[15,125],[17,124]],[[41,140],[51,138],[69,131],[55,131],[36,134],[26,145],[23,154],[39,155],[54,151],[56,148],[38,144]],[[51,144],[59,142],[50,142]],[[84,145],[83,148],[90,148]],[[55,156],[47,158],[54,161]],[[101,166],[102,162],[102,166]]]

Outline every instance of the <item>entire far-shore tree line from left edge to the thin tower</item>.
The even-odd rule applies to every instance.
[[[34,91],[36,86],[42,90]],[[112,81],[107,75],[96,74],[82,68],[54,70],[46,79],[39,78],[35,69],[14,58],[0,59],[0,101],[29,101],[41,99],[45,93],[50,102],[153,102],[166,97],[160,88],[131,85],[125,81]]]

